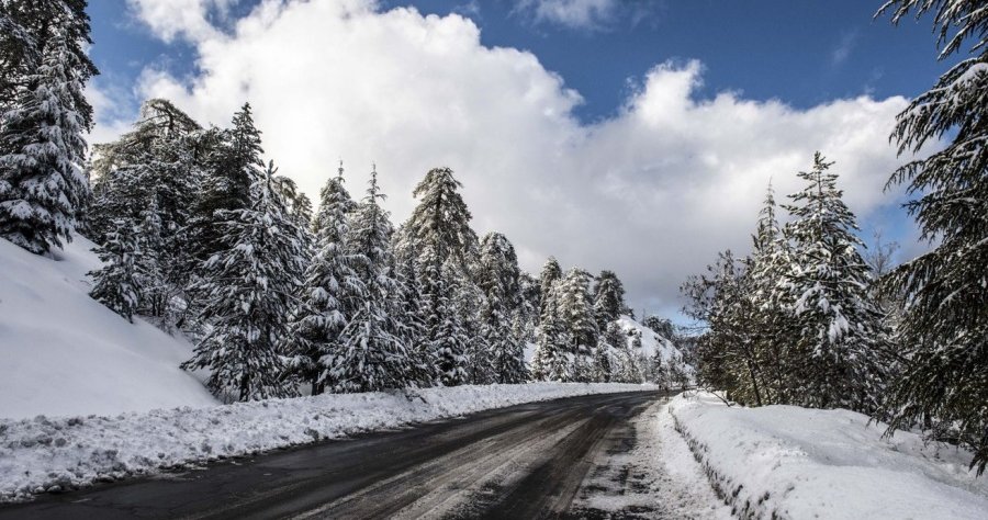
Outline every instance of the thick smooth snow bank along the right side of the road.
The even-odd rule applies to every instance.
[[[692,393],[670,404],[676,429],[741,517],[988,518],[988,478],[970,455],[868,425],[847,410],[727,407]]]

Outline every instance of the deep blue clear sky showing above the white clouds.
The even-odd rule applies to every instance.
[[[247,14],[257,3],[240,0],[231,8],[232,18]],[[909,19],[892,26],[888,16],[873,19],[880,3],[647,0],[641,8],[645,12],[617,14],[593,27],[535,20],[507,0],[384,0],[381,5],[469,16],[481,27],[483,44],[530,50],[562,76],[584,98],[576,114],[593,121],[611,116],[629,84],[667,59],[704,63],[700,95],[737,90],[750,99],[779,99],[798,108],[865,93],[913,97],[929,88],[946,64],[936,61],[928,21]],[[92,57],[104,83],[126,84],[149,63],[178,76],[194,70],[194,47],[149,34],[126,0],[98,0],[89,12]],[[229,26],[229,21],[223,24]]]

